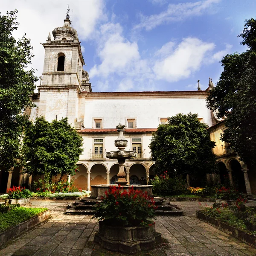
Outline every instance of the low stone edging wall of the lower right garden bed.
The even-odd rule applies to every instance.
[[[247,233],[244,230],[241,230],[238,227],[230,226],[229,224],[220,221],[216,218],[208,217],[205,214],[205,211],[196,211],[196,217],[201,219],[202,221],[205,221],[212,226],[218,228],[219,230],[234,236],[235,238],[243,241],[246,244],[249,244],[250,246],[256,247],[256,236],[251,235],[250,233]]]

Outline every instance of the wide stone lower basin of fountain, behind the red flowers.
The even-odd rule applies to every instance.
[[[105,191],[109,189],[110,186],[118,186],[118,185],[91,185],[92,192],[90,198],[100,200],[102,196],[105,196]],[[149,196],[153,196],[152,194],[152,185],[123,185],[123,190],[128,191],[129,188],[134,187],[134,189],[142,190],[143,192],[147,192]]]

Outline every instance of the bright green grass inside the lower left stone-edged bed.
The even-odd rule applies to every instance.
[[[0,232],[8,230],[10,227],[20,224],[46,210],[48,209],[17,207],[8,212],[0,212]]]

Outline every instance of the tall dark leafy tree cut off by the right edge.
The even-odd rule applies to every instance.
[[[226,117],[221,140],[230,144],[241,160],[256,164],[256,20],[245,20],[239,35],[249,49],[227,54],[223,72],[207,98],[207,107],[218,118]]]

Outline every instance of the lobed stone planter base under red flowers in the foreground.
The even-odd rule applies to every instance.
[[[161,234],[155,231],[155,224],[147,227],[111,227],[99,221],[99,232],[94,242],[101,247],[122,253],[133,254],[151,250],[161,242]]]

